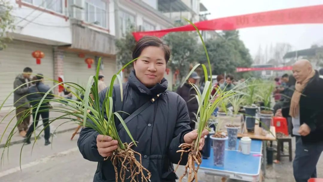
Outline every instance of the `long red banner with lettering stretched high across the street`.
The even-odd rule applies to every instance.
[[[235,30],[246,27],[323,23],[323,5],[238,15],[194,23],[199,30]],[[136,41],[145,35],[162,37],[170,32],[195,31],[192,25],[164,30],[133,32]]]

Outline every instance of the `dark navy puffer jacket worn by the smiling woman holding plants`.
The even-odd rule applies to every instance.
[[[115,86],[116,87],[116,86]],[[114,88],[115,88],[114,87]],[[178,177],[173,172],[173,164],[177,164],[180,154],[178,146],[183,143],[184,134],[192,131],[185,101],[176,93],[166,91],[167,80],[152,88],[144,86],[132,71],[127,83],[123,85],[123,102],[120,102],[120,93],[114,90],[114,111],[133,113],[153,96],[162,93],[151,106],[127,123],[138,147],[133,149],[142,155],[142,165],[151,172],[153,182],[175,182]],[[100,101],[105,98],[107,88],[100,92]],[[119,96],[118,96],[119,95]],[[102,103],[101,103],[102,104]],[[121,114],[121,113],[120,113]],[[121,114],[125,119],[127,114]],[[117,119],[116,119],[117,120]],[[116,122],[116,126],[120,122]],[[122,142],[131,140],[122,127],[119,131]],[[103,161],[96,146],[98,133],[92,128],[84,128],[80,132],[78,147],[85,159],[98,162],[94,182],[113,182],[115,172],[110,160]],[[182,165],[187,162],[188,156],[183,156]],[[138,159],[137,159],[138,160]]]

